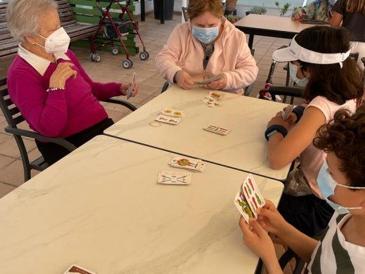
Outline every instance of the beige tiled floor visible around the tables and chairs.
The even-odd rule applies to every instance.
[[[173,20],[166,21],[164,25],[160,25],[159,20],[154,20],[153,17],[147,16],[145,22],[140,22],[140,29],[147,51],[150,53],[150,59],[142,61],[138,56],[134,56],[133,68],[125,70],[121,67],[121,61],[125,56],[112,56],[112,53],[103,51],[101,63],[92,63],[89,60],[89,51],[85,48],[72,48],[77,54],[82,65],[95,81],[129,81],[131,73],[137,72],[138,84],[140,84],[140,91],[138,96],[131,98],[131,103],[137,107],[147,103],[154,97],[159,95],[161,86],[164,84],[164,79],[161,78],[154,65],[154,58],[161,50],[162,46],[168,39],[173,27],[181,22],[179,15],[174,15]],[[276,39],[271,37],[255,37],[255,59],[258,62],[259,73],[258,79],[255,81],[251,96],[256,96],[258,91],[265,85],[265,80],[269,72],[271,64],[272,51],[283,44],[288,44],[287,39]],[[6,70],[11,61],[0,64],[0,77],[6,75]],[[282,66],[278,67],[273,81],[275,84],[284,84],[286,74],[282,70]],[[119,105],[106,103],[105,109],[114,121],[117,121],[128,115],[126,108]],[[6,195],[14,188],[18,187],[24,182],[22,162],[18,147],[14,138],[8,133],[4,132],[6,126],[5,118],[0,114],[0,197]],[[22,125],[27,128],[26,124]],[[39,157],[39,152],[36,149],[34,141],[31,139],[25,140],[25,145],[29,151],[31,159]],[[33,172],[35,175],[36,172]]]

